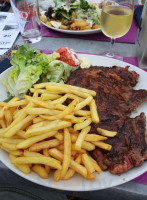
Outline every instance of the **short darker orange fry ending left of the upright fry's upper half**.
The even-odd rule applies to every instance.
[[[40,143],[36,143],[29,148],[29,151],[41,151],[43,149],[49,149],[58,146],[61,142],[57,139],[51,139],[48,141],[43,141]]]

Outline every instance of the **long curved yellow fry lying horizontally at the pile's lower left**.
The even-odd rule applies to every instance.
[[[44,164],[55,169],[61,169],[61,164],[58,160],[46,157],[46,156],[34,156],[34,157],[18,157],[12,161],[13,164]]]

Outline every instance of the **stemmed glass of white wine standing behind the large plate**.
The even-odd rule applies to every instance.
[[[134,0],[104,0],[101,13],[101,30],[111,39],[111,47],[106,53],[115,57],[113,46],[115,39],[124,36],[130,29],[133,20]]]

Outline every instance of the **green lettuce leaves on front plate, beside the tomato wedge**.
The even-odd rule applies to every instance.
[[[11,64],[14,66],[3,80],[7,88],[8,97],[23,96],[31,86],[39,82],[60,82],[67,81],[70,73],[75,67],[56,60],[60,55],[43,54],[27,44],[19,47],[16,53],[12,54]]]

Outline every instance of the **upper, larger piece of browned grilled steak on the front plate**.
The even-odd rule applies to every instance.
[[[101,121],[129,116],[141,103],[147,101],[146,90],[134,90],[138,74],[122,67],[91,67],[71,74],[68,84],[95,90]]]

